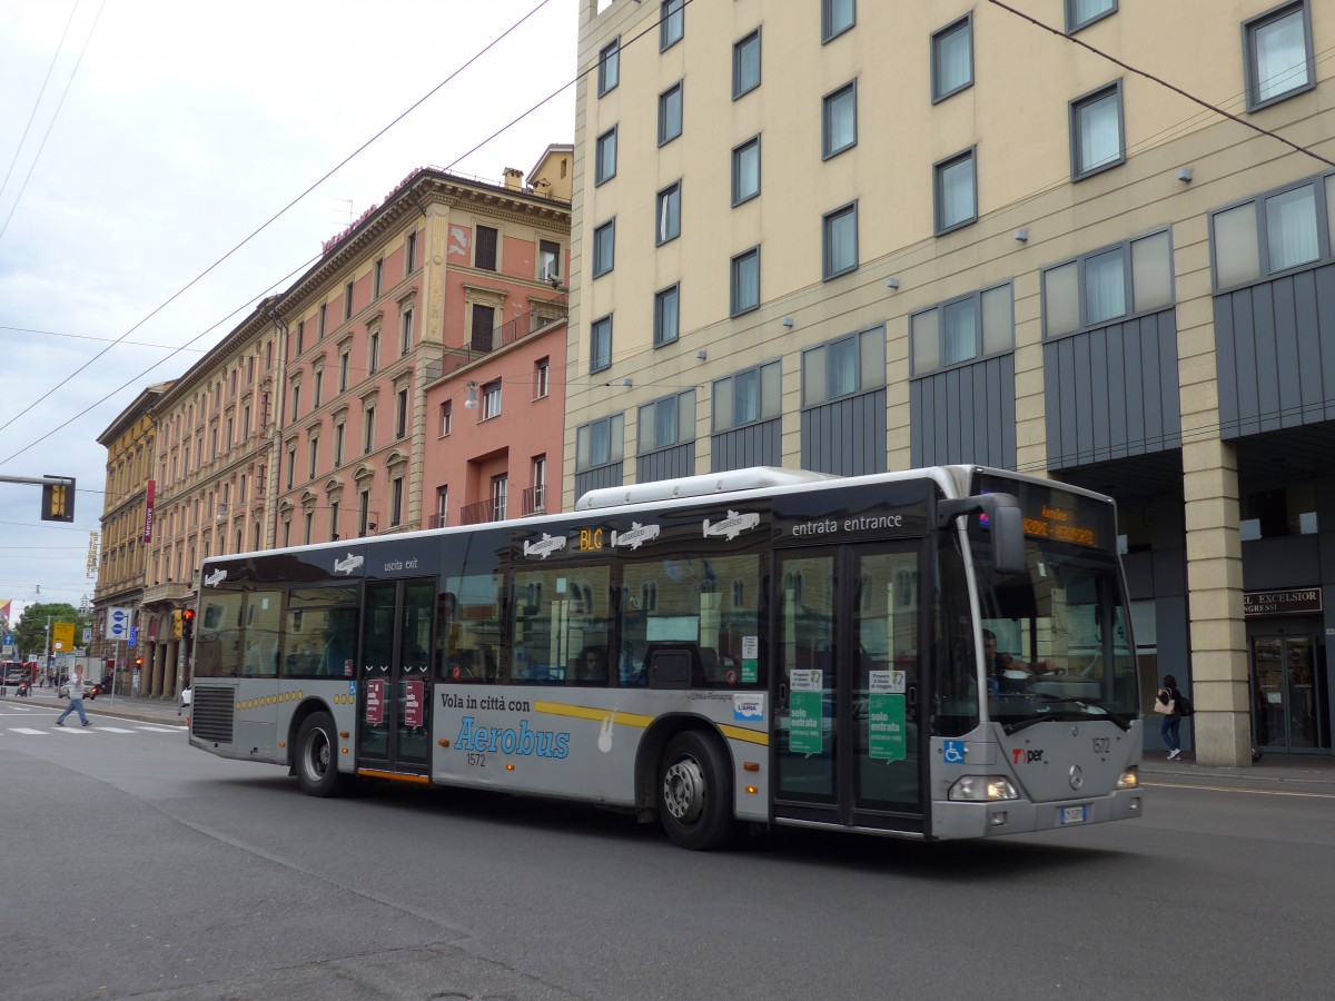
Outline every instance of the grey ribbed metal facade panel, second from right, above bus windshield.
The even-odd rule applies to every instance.
[[[1048,467],[1181,447],[1173,310],[1043,346]]]

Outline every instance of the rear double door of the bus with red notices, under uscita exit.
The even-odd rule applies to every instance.
[[[362,611],[358,769],[426,775],[431,759],[435,581],[372,581]]]

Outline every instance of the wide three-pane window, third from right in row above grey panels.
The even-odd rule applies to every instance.
[[[933,306],[909,319],[913,375],[1015,348],[1011,284]]]

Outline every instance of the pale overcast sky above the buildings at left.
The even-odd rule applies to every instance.
[[[73,527],[37,519],[40,487],[0,483],[15,618],[91,602],[96,439],[143,387],[182,375],[417,167],[499,183],[573,141],[570,85],[470,152],[573,81],[577,16],[577,0],[0,0],[0,475],[79,482]]]

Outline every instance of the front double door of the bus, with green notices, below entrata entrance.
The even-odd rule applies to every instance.
[[[778,553],[776,818],[924,830],[921,559],[917,541]]]

